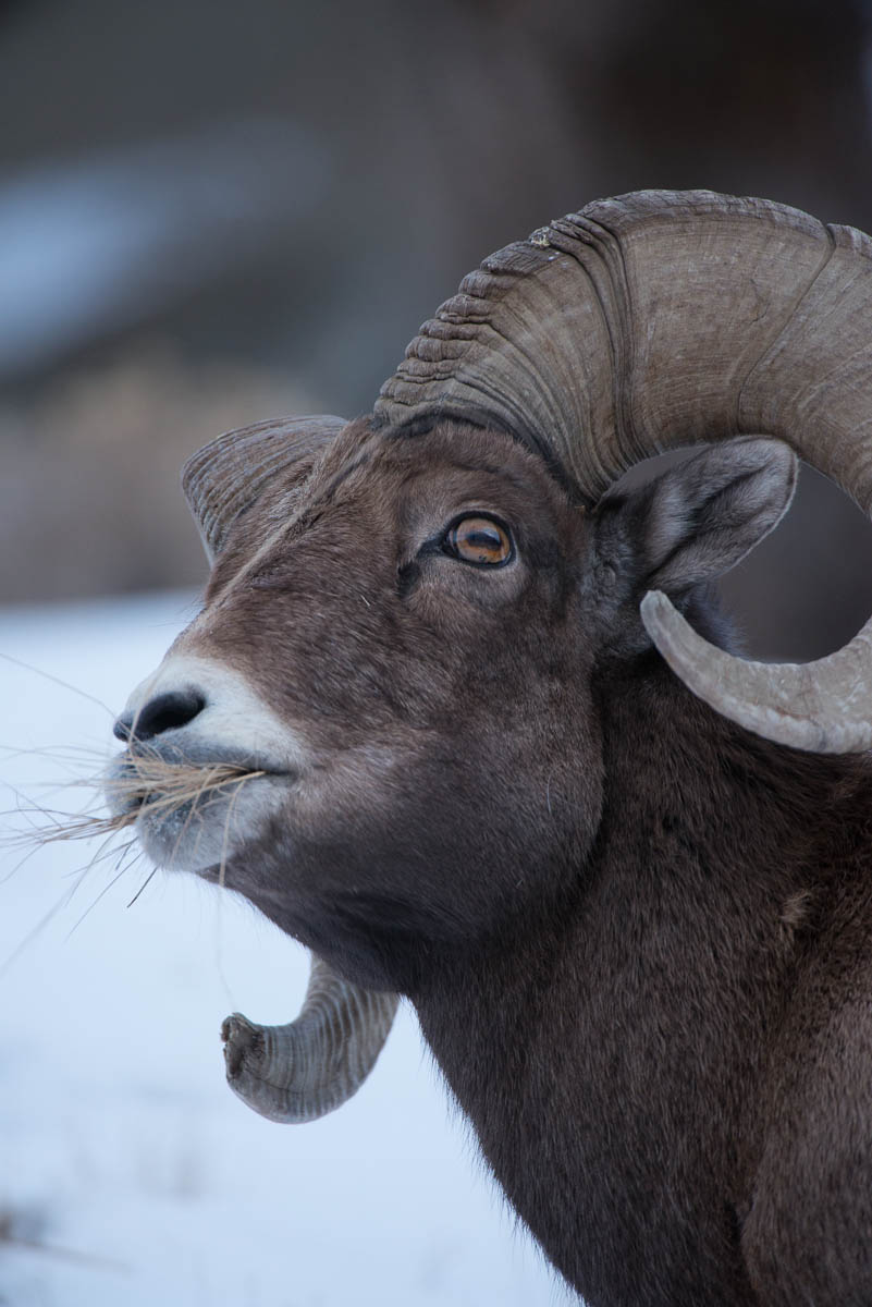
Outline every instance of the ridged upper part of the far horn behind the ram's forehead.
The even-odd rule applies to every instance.
[[[209,562],[268,484],[296,463],[311,464],[345,425],[345,418],[326,416],[270,418],[219,435],[188,459],[181,486]]]

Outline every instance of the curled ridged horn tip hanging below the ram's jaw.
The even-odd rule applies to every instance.
[[[388,1038],[396,993],[360,989],[312,958],[305,1000],[288,1026],[225,1021],[227,1084],[272,1121],[312,1121],[360,1089]]]

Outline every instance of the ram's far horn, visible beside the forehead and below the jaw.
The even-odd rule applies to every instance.
[[[234,520],[273,478],[317,455],[345,425],[341,417],[256,422],[219,435],[188,460],[181,481],[210,563]],[[243,1102],[274,1121],[311,1121],[332,1112],[372,1070],[397,1002],[397,995],[349,984],[312,957],[296,1021],[257,1026],[239,1013],[227,1017],[227,1081]]]

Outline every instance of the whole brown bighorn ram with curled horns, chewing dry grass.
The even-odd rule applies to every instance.
[[[872,242],[591,204],[471,273],[372,416],[188,463],[205,605],[116,725],[151,857],[316,959],[292,1025],[227,1021],[236,1093],[337,1107],[406,995],[591,1307],[872,1303],[872,622],[807,667],[709,643],[796,455],[869,510]]]

